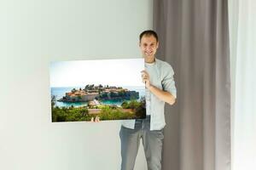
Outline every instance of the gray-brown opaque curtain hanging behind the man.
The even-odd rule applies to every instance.
[[[158,58],[175,71],[166,106],[164,170],[230,170],[227,0],[155,0]]]

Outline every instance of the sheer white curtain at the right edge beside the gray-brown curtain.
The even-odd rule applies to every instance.
[[[256,1],[229,1],[233,170],[256,169]]]

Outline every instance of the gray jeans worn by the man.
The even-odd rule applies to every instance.
[[[134,129],[121,126],[119,137],[122,156],[121,170],[132,170],[134,168],[140,139],[143,139],[148,170],[161,169],[163,129],[150,131],[150,116],[147,116],[146,119],[137,119]]]

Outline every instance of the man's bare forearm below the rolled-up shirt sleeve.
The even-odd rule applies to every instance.
[[[157,96],[160,100],[168,103],[169,105],[173,105],[175,103],[175,97],[169,92],[155,88],[153,85],[150,85],[148,89],[152,94]]]

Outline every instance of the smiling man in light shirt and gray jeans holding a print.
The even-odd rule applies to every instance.
[[[119,137],[121,140],[121,170],[131,170],[134,167],[140,139],[148,169],[161,169],[161,151],[164,139],[163,128],[166,125],[165,103],[173,105],[176,99],[176,88],[173,79],[172,66],[156,59],[159,42],[154,31],[143,31],[140,34],[139,47],[145,61],[142,80],[146,87],[146,119],[125,120],[122,123]]]

